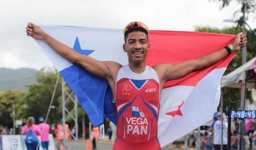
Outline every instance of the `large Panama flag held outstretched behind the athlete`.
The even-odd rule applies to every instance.
[[[128,63],[127,55],[122,49],[124,35],[120,29],[40,27],[56,40],[83,55],[101,61],[116,61],[123,65]],[[153,66],[196,59],[227,46],[234,37],[227,34],[150,30],[151,51],[146,63]],[[37,43],[75,92],[94,126],[103,124],[104,117],[116,124],[108,82],[61,58],[44,42],[37,40]],[[158,119],[158,139],[161,147],[213,118],[219,104],[221,77],[235,55],[233,52],[207,69],[166,82],[161,93]]]

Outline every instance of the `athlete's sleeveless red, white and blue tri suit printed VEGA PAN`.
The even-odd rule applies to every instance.
[[[160,107],[159,78],[146,66],[141,74],[124,65],[118,72],[114,107],[117,136],[113,150],[159,150],[157,121]]]

